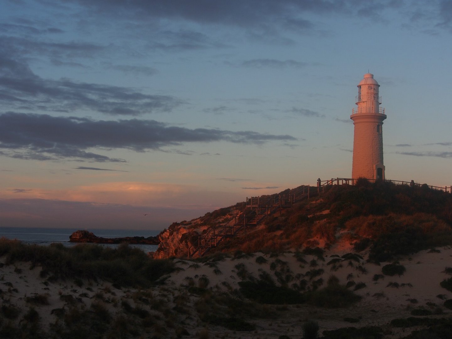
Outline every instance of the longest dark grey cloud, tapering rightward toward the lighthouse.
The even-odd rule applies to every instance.
[[[268,141],[296,141],[290,135],[253,131],[169,126],[155,120],[105,121],[47,114],[8,112],[0,115],[1,154],[34,160],[78,158],[98,162],[125,162],[89,151],[93,148],[129,149],[142,152],[187,142],[226,141],[262,145]],[[180,152],[180,151],[178,151]],[[193,154],[192,151],[186,151]]]

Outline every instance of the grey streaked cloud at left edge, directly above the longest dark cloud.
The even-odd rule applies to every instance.
[[[0,94],[4,94],[0,95],[0,101],[13,108],[49,112],[88,109],[108,115],[137,116],[155,111],[170,112],[182,104],[171,96],[143,94],[130,88],[77,83],[69,79],[44,80],[31,74],[20,76],[26,75],[29,69],[14,61],[7,71],[10,73],[7,76],[0,75]]]

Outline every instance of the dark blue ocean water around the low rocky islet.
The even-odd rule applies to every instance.
[[[69,242],[69,235],[77,230],[73,228],[20,228],[20,227],[0,227],[0,237],[7,239],[17,239],[26,244],[49,245],[52,242],[59,242],[65,246],[73,246],[76,243]],[[88,230],[94,235],[103,238],[122,238],[126,236],[155,236],[160,231],[146,230],[108,230],[92,229]],[[100,245],[100,244],[99,244]],[[117,247],[116,244],[101,244],[102,246]],[[130,245],[137,247],[144,252],[155,252],[157,245]]]

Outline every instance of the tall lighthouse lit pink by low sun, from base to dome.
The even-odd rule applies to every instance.
[[[355,125],[353,137],[352,178],[385,179],[383,165],[383,120],[385,109],[380,107],[378,82],[373,74],[364,74],[358,84],[357,108],[353,108],[350,119]]]

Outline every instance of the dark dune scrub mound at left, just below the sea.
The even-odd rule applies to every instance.
[[[115,249],[93,244],[39,246],[2,238],[0,256],[5,256],[5,264],[23,261],[31,262],[31,268],[41,266],[41,276],[49,280],[102,279],[118,287],[151,286],[174,268],[172,261],[151,259],[127,244]]]

